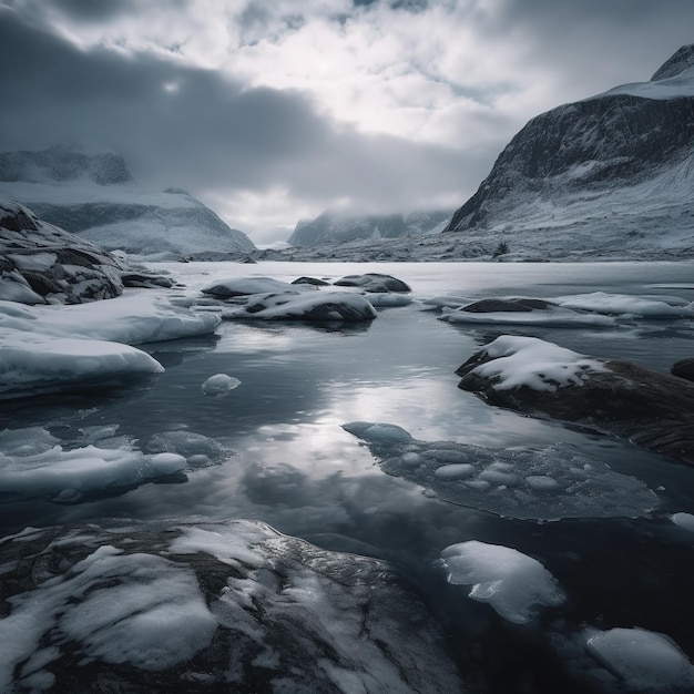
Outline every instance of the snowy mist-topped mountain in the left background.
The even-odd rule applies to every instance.
[[[145,190],[113,153],[67,146],[0,152],[0,196],[108,249],[185,257],[255,251],[243,232],[185,191]]]

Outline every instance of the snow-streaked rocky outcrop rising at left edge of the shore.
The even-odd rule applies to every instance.
[[[119,259],[11,202],[0,202],[0,299],[80,304],[123,292]]]

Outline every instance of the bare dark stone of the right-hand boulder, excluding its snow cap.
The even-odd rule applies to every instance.
[[[554,390],[500,389],[474,372],[491,360],[486,349],[472,355],[456,371],[458,387],[489,405],[580,423],[694,466],[694,385],[629,361],[595,359],[605,370]]]

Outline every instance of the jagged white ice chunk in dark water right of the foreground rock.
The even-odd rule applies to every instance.
[[[509,622],[529,622],[535,605],[564,601],[554,576],[518,550],[470,540],[447,547],[441,558],[450,583],[472,585],[470,598],[488,602]]]

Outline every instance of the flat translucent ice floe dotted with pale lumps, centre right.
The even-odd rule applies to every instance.
[[[657,496],[569,443],[488,449],[420,441],[396,425],[356,421],[343,428],[366,441],[384,470],[439,499],[518,519],[647,516]]]

